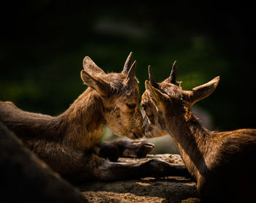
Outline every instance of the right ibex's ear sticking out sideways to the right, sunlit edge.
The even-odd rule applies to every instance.
[[[190,102],[194,104],[195,102],[206,98],[209,96],[216,88],[219,83],[219,76],[215,77],[210,82],[197,86],[196,88],[192,89],[192,95],[190,97]]]

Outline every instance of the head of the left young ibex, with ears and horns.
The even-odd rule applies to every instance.
[[[106,74],[88,56],[83,59],[81,78],[102,99],[106,125],[119,136],[138,139],[143,136],[136,61],[129,54],[121,73]]]

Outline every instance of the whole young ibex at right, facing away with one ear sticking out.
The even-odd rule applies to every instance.
[[[148,74],[141,102],[146,137],[173,137],[204,199],[256,201],[256,130],[208,131],[191,111],[192,104],[217,88],[219,77],[184,91],[176,82],[176,62],[162,83],[155,82],[150,66]]]

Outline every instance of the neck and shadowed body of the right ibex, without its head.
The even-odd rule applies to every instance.
[[[224,202],[233,202],[230,199],[236,194],[238,202],[251,198],[256,191],[256,130],[208,131],[197,118],[185,123],[179,131],[170,127],[169,134],[189,173],[197,180],[201,196]]]

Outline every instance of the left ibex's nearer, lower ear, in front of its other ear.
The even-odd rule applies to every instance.
[[[91,74],[85,70],[82,70],[80,75],[83,83],[88,85],[90,88],[93,88],[95,91],[97,91],[97,93],[99,93],[99,95],[107,96],[111,92],[110,84],[102,78],[91,76]]]

